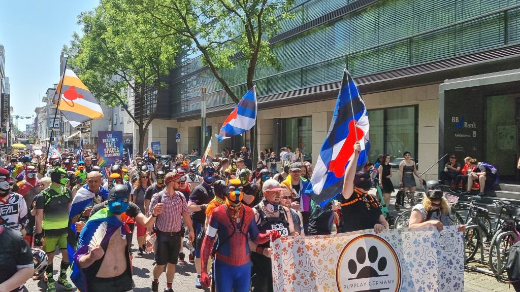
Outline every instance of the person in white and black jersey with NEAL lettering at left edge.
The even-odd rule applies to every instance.
[[[9,170],[0,167],[0,225],[22,231],[29,223],[23,197],[10,190]]]

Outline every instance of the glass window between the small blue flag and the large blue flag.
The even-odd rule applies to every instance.
[[[293,152],[299,148],[305,160],[310,158],[313,151],[312,117],[287,118],[282,120],[281,127],[282,147],[289,146]]]

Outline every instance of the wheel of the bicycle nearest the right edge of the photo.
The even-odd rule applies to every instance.
[[[497,231],[500,234],[503,230]],[[508,261],[509,248],[518,241],[516,233],[512,231],[505,232],[498,236],[489,247],[489,267],[495,276],[505,273],[505,263]]]

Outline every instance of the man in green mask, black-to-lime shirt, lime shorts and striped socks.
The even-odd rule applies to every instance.
[[[71,290],[72,285],[67,280],[67,268],[69,267],[69,255],[67,254],[67,234],[69,223],[69,210],[71,206],[71,191],[65,187],[68,182],[67,171],[56,167],[50,172],[51,184],[43,190],[36,199],[36,233],[34,234],[34,245],[42,246],[47,257],[49,266],[47,273],[47,292],[55,292],[54,253],[56,246],[61,251],[60,273],[58,284],[65,289]]]

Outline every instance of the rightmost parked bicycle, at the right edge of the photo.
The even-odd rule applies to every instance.
[[[517,217],[520,206],[512,205],[509,201],[493,201],[497,207],[497,232],[493,235],[489,247],[489,267],[497,278],[505,272],[505,263],[508,261],[509,248],[520,240],[517,231]],[[505,211],[505,212],[504,212]],[[505,213],[505,214],[504,214]],[[502,218],[506,215],[505,218]],[[499,228],[499,227],[500,228]]]

